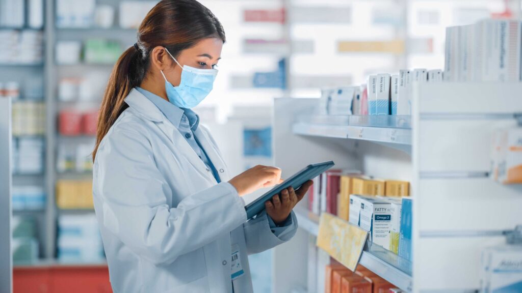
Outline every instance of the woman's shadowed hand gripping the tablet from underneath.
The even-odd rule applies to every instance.
[[[292,187],[283,189],[280,194],[276,194],[271,200],[265,202],[266,213],[274,220],[276,225],[288,218],[293,207],[303,199],[304,194],[312,184],[313,181],[308,180],[297,191],[294,191]]]

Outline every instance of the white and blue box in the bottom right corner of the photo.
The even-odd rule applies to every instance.
[[[480,292],[522,292],[522,246],[484,249],[481,266]]]

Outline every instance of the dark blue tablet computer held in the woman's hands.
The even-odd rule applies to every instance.
[[[334,161],[328,161],[306,166],[306,168],[302,169],[298,173],[295,173],[287,180],[284,180],[262,196],[255,199],[253,202],[247,204],[245,206],[247,218],[251,219],[263,211],[265,209],[265,202],[276,194],[280,193],[283,189],[289,188],[291,186],[294,190],[298,190],[301,185],[304,184],[304,182],[319,176],[321,173],[325,172],[334,165]]]

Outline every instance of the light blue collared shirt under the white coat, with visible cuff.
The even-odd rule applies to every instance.
[[[203,163],[205,163],[207,168],[212,170],[212,175],[214,178],[216,178],[216,181],[218,181],[218,183],[221,182],[216,167],[214,167],[214,164],[212,164],[210,161],[207,153],[201,147],[197,138],[194,136],[194,131],[196,131],[199,125],[199,116],[191,109],[179,108],[162,97],[140,87],[136,87],[136,90],[146,96],[147,99],[149,99],[153,104],[156,105],[156,107],[158,107],[158,109],[160,109],[161,113],[163,113],[170,123],[172,123],[172,125],[174,125],[177,130],[179,130],[180,133],[185,137],[185,140],[188,142],[194,152],[196,152],[199,158],[203,160]],[[270,216],[267,218],[270,225],[270,230],[276,237],[283,241],[290,240],[295,225],[292,221],[291,215],[289,215],[288,218],[283,223],[281,223],[281,225],[276,225]]]

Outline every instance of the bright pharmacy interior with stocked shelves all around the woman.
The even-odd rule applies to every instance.
[[[522,292],[520,0],[200,2],[227,42],[195,112],[231,173],[335,162],[254,292]],[[0,291],[111,292],[91,153],[156,3],[0,0]]]

